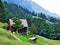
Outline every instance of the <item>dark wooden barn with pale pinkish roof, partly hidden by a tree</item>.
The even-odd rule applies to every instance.
[[[22,24],[24,26],[23,29],[19,29],[18,31],[14,31],[14,29],[12,28],[12,25],[15,24],[15,23],[13,22],[12,19],[9,19],[8,30],[11,31],[11,32],[17,32],[17,33],[20,33],[20,34],[26,34],[27,33],[27,27],[28,27],[27,20],[26,19],[20,19],[20,21],[22,22]]]

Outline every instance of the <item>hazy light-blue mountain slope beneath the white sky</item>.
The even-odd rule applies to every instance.
[[[44,13],[46,14],[46,16],[50,16],[50,17],[55,17],[55,18],[60,18],[60,16],[58,16],[58,14],[54,14],[49,12],[48,10],[42,8],[40,5],[36,4],[35,2],[33,2],[32,0],[5,0],[7,2],[11,2],[11,3],[15,3],[17,5],[22,6],[23,8],[27,8],[29,11],[33,12],[35,11],[36,13]]]

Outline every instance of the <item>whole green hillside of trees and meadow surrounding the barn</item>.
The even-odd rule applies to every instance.
[[[13,3],[4,2],[4,7],[2,1],[0,1],[0,45],[59,45],[60,40],[60,25],[55,25],[52,22],[45,20],[45,14],[40,14],[42,18],[32,16],[34,14],[29,12],[27,9],[22,8]],[[7,11],[8,9],[8,11]],[[6,12],[7,11],[7,12]],[[3,16],[4,15],[4,16]],[[9,16],[8,16],[9,15]],[[15,17],[15,20],[19,27],[19,19],[25,18],[28,21],[28,35],[13,34],[7,31],[8,20]],[[16,18],[17,17],[17,18]],[[2,23],[3,22],[3,23]],[[7,23],[6,23],[7,22]],[[16,28],[15,27],[15,28]],[[19,27],[20,28],[20,27]],[[14,28],[13,28],[14,29]],[[16,28],[17,29],[17,28]],[[15,30],[16,30],[15,29]],[[29,39],[33,36],[37,37],[36,43],[31,43]],[[44,36],[44,37],[42,37]],[[47,38],[49,39],[47,39]]]

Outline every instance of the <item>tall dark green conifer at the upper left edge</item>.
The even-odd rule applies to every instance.
[[[2,1],[0,0],[0,22],[7,22],[8,21],[8,11],[4,7]]]

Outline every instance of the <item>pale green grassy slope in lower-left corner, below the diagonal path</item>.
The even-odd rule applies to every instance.
[[[24,44],[15,35],[0,28],[0,45],[24,45]]]

